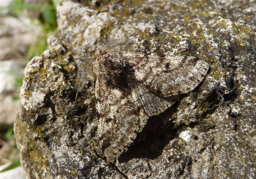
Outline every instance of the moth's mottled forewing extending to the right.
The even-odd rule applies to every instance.
[[[200,84],[209,65],[192,56],[123,54],[130,74],[140,84],[162,96],[187,93]]]

